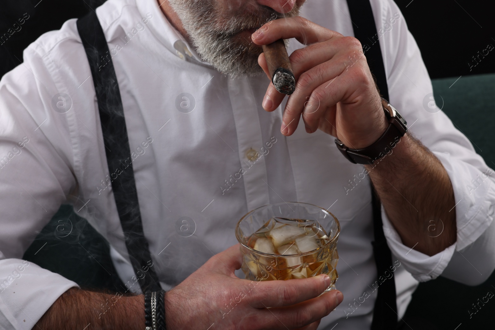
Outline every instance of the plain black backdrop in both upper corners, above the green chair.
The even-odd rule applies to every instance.
[[[20,64],[22,50],[42,33],[59,29],[69,18],[81,17],[103,0],[2,0],[0,34],[28,13],[31,17],[0,46],[0,76]],[[492,1],[397,0],[416,39],[430,77],[445,78],[495,72],[495,51],[478,60],[473,56],[495,46]],[[486,3],[492,3],[489,9]],[[36,6],[36,7],[35,7]],[[495,50],[495,49],[494,49]],[[493,57],[493,58],[492,58]]]

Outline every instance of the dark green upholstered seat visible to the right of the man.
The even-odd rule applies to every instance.
[[[437,106],[441,107],[443,99],[445,105],[442,110],[471,140],[476,152],[493,169],[495,74],[462,76],[459,80],[457,78],[432,80],[435,101]],[[495,301],[489,300],[489,303],[471,318],[468,313],[468,309],[473,309],[472,304],[477,303],[478,298],[486,296],[488,291],[495,294],[495,273],[478,286],[467,286],[443,277],[420,283],[404,318],[421,316],[435,324],[439,330],[492,329]]]

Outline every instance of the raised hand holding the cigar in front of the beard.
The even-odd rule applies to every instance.
[[[291,54],[289,64],[283,40],[293,38],[305,47]],[[292,135],[302,120],[307,133],[319,129],[359,149],[387,130],[380,93],[356,38],[297,16],[265,23],[251,41],[263,47],[258,64],[273,82],[263,96],[263,109],[279,109],[290,94],[282,109],[283,135]]]

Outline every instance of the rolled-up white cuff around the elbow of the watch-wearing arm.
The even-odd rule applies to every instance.
[[[491,176],[495,172],[488,167],[480,171],[469,163],[452,159],[446,153],[434,153],[447,171],[457,202],[456,242],[433,256],[411,249],[402,244],[382,207],[383,229],[388,245],[420,282],[443,275],[464,284],[481,284],[495,268],[495,226],[491,226],[495,209],[495,185]],[[440,236],[443,229],[440,222],[432,227],[429,235]]]

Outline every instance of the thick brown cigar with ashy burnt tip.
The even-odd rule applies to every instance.
[[[296,79],[292,71],[289,55],[282,39],[270,45],[263,45],[268,72],[273,86],[280,93],[290,95],[296,89]]]

